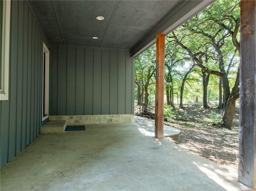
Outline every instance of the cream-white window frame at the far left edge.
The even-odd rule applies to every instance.
[[[1,60],[1,85],[0,100],[9,99],[9,43],[10,43],[10,12],[11,1],[3,1],[3,23],[2,23],[2,60]]]

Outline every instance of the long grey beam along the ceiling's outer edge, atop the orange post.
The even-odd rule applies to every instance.
[[[156,35],[158,33],[167,35],[168,33],[174,31],[176,28],[178,28],[178,26],[185,23],[214,1],[215,0],[190,0],[186,4],[180,4],[180,6],[178,6],[164,20],[162,20],[162,22],[160,22],[158,26],[152,30],[152,32],[150,32],[144,39],[142,39],[142,41],[132,48],[131,56],[138,56],[140,53],[156,43]]]

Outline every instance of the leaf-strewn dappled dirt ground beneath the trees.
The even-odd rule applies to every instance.
[[[148,109],[154,112],[154,106]],[[135,114],[139,111],[135,106]],[[198,105],[184,105],[183,109],[176,106],[165,124],[180,129],[181,134],[166,139],[237,172],[239,109],[236,108],[232,130],[212,126],[210,116],[221,113],[222,110]]]

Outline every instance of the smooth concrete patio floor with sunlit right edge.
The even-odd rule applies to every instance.
[[[237,174],[142,122],[39,135],[1,170],[1,191],[238,191]],[[151,121],[152,122],[152,121]],[[146,122],[151,123],[151,122]]]

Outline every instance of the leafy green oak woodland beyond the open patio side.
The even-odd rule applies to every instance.
[[[176,108],[199,105],[217,117],[212,124],[232,128],[239,98],[239,31],[239,1],[218,0],[166,35],[165,117],[175,115]],[[154,105],[155,73],[153,45],[135,59],[140,112]]]

